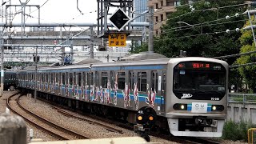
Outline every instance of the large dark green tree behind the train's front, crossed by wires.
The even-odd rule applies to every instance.
[[[154,50],[168,57],[178,55],[179,50],[186,50],[188,56],[216,57],[238,54],[240,48],[238,38],[241,34],[226,34],[226,30],[242,27],[243,22],[234,21],[243,20],[244,17],[226,19],[226,16],[234,16],[236,13],[244,12],[245,9],[243,7],[218,9],[218,7],[243,2],[242,0],[199,1],[192,4],[194,11],[191,11],[188,5],[177,7],[177,11],[168,17],[166,25],[162,26],[160,37],[155,39]],[[184,22],[190,26],[185,25]],[[228,59],[230,63],[234,60],[235,58]]]

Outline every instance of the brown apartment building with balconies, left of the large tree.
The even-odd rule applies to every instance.
[[[166,24],[168,14],[174,12],[175,7],[180,5],[180,0],[148,0],[148,6],[154,8],[154,35],[161,34],[160,27]]]

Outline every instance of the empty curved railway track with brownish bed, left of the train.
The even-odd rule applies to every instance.
[[[16,103],[11,102],[13,101],[11,98],[13,98],[14,96],[17,96],[17,94],[13,94],[6,99],[6,105],[8,106],[8,108],[12,110],[14,113],[22,116],[22,118],[24,118],[27,122],[30,122],[34,126],[38,127],[38,129],[46,131],[46,133],[58,138],[59,140],[90,138],[83,134],[78,134],[77,132],[74,132],[72,130],[67,130],[65,127],[58,126],[57,124],[48,121],[46,118],[42,118],[37,114],[34,114],[29,110],[26,110],[26,108],[24,108],[19,102],[19,98],[22,96],[21,94],[18,94],[18,98],[15,99]],[[20,110],[14,108],[14,105],[18,105]]]

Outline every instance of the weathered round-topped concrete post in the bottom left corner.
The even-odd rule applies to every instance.
[[[26,144],[26,122],[22,117],[0,115],[0,141],[1,144]]]

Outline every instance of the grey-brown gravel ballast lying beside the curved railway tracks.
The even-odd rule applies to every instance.
[[[6,111],[6,98],[8,98],[10,95],[17,93],[17,91],[4,91],[4,94],[2,97],[0,97],[0,114],[4,113]],[[121,129],[123,134],[111,132],[109,130],[106,130],[102,126],[94,125],[89,122],[84,122],[81,120],[78,120],[76,118],[68,118],[60,113],[58,113],[57,110],[52,108],[49,104],[46,102],[42,102],[37,100],[34,102],[34,98],[26,98],[23,96],[20,99],[20,102],[22,103],[22,106],[25,106],[30,111],[39,114],[43,116],[43,118],[47,118],[52,122],[58,123],[60,126],[66,126],[66,128],[70,130],[75,130],[79,134],[86,134],[89,135],[90,138],[114,138],[114,137],[132,137],[134,136],[134,132],[131,130],[126,130],[123,128]],[[81,115],[80,115],[81,116]],[[95,120],[94,120],[95,121]],[[43,141],[56,141],[56,138],[50,136],[49,134],[46,134],[42,130],[38,130],[35,126],[30,125],[29,123],[26,123],[27,125],[27,141],[30,141],[30,129],[33,129],[34,132],[34,138],[42,138]],[[109,123],[107,123],[109,126],[111,126]],[[113,126],[113,125],[112,125]],[[153,136],[150,136],[151,142],[157,142],[157,143],[177,143],[177,142],[170,142],[165,139],[156,138]],[[222,143],[226,144],[242,144],[245,142],[230,142],[230,141],[224,141],[222,140]]]

